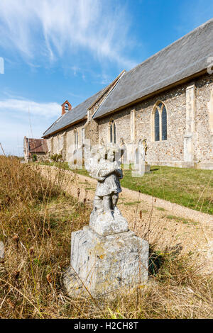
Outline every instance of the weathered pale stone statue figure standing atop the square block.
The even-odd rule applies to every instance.
[[[94,196],[94,208],[90,215],[89,226],[99,235],[109,235],[114,232],[128,230],[128,222],[123,218],[116,204],[121,193],[120,179],[123,172],[115,160],[116,147],[102,147],[99,158],[94,159],[90,173],[97,179],[97,189]]]

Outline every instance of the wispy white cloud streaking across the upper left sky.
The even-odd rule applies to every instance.
[[[121,6],[122,4],[122,6]],[[125,54],[131,18],[112,0],[1,0],[0,45],[16,47],[28,63],[39,55],[54,61],[77,50],[94,58],[135,65]]]

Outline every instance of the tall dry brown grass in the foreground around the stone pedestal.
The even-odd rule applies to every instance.
[[[61,190],[63,174],[43,179],[28,164],[0,157],[1,318],[211,318],[212,278],[190,254],[152,247],[148,286],[123,290],[113,301],[70,298],[62,287],[70,233],[91,208]],[[71,191],[72,193],[72,191]]]

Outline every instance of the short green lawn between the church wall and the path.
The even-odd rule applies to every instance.
[[[67,163],[55,165],[69,169]],[[85,169],[74,171],[89,176]],[[151,173],[143,177],[132,177],[131,170],[124,170],[121,186],[213,215],[212,170],[151,166]]]

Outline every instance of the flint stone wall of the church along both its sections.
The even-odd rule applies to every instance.
[[[189,90],[190,86],[195,86]],[[193,92],[194,91],[194,92]],[[180,167],[196,167],[198,169],[213,169],[213,74],[189,81],[173,89],[148,98],[134,106],[124,108],[104,118],[93,120],[92,114],[104,98],[94,104],[88,111],[88,120],[72,125],[48,138],[50,154],[58,152],[58,136],[65,132],[63,149],[60,152],[66,161],[70,161],[71,147],[74,147],[74,130],[78,130],[78,147],[82,146],[82,128],[85,139],[91,145],[97,145],[103,139],[109,142],[109,123],[114,119],[116,123],[116,143],[124,143],[128,147],[130,162],[135,159],[139,140],[147,139],[148,151],[146,162],[151,165],[167,165]],[[187,94],[194,96],[192,101],[193,120],[189,126],[191,115],[188,115]],[[153,140],[153,110],[158,101],[163,101],[168,115],[168,140]],[[131,111],[136,113],[135,124],[131,123]],[[72,112],[69,111],[69,112]],[[189,128],[192,132],[189,133]],[[134,131],[134,133],[132,133]]]

